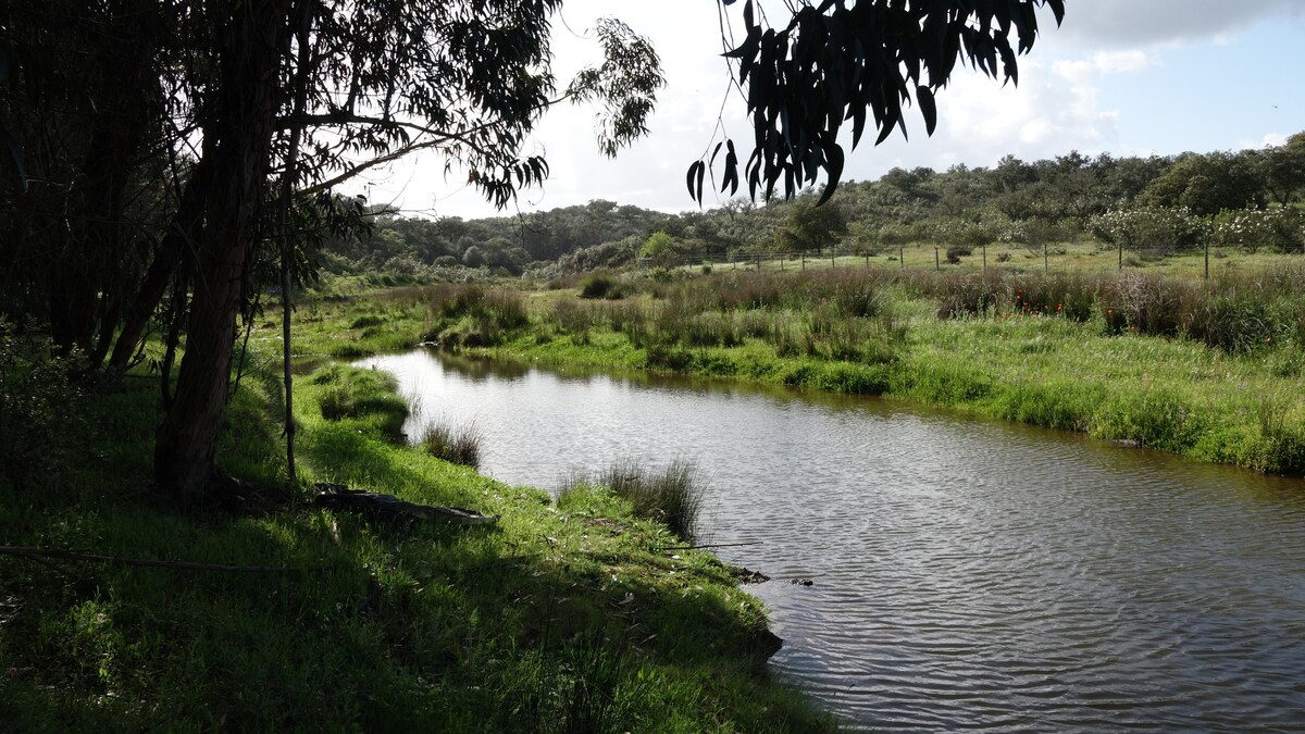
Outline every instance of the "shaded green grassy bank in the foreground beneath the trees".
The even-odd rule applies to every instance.
[[[7,388],[23,383],[10,377]],[[397,443],[406,407],[381,374],[334,367],[299,384],[305,483],[499,522],[385,526],[312,507],[303,492],[247,492],[239,512],[177,515],[149,487],[154,379],[74,394],[57,374],[34,374],[23,389],[39,400],[23,404],[34,406],[23,430],[43,455],[5,456],[7,545],[245,568],[0,555],[5,727],[826,726],[769,678],[763,610],[713,556],[663,550],[683,543],[603,490],[553,503]],[[278,400],[275,379],[247,374],[221,439],[222,466],[257,486],[284,475]],[[16,426],[5,428],[5,451],[21,449]]]

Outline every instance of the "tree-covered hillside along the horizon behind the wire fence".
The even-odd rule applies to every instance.
[[[1095,238],[1128,249],[1173,251],[1208,238],[1224,247],[1298,249],[1293,204],[1305,193],[1305,133],[1237,153],[1086,157],[1070,152],[996,166],[893,168],[848,182],[826,204],[814,192],[754,205],[733,199],[707,212],[664,214],[612,201],[521,217],[463,221],[381,215],[361,240],[329,246],[338,268],[419,274],[423,266],[589,270],[636,257],[756,251],[860,252],[910,242],[955,247]],[[652,235],[656,236],[652,236]]]

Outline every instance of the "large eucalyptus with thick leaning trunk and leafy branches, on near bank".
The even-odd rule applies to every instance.
[[[599,144],[615,153],[646,132],[662,82],[651,47],[607,21],[598,31],[606,61],[559,89],[549,34],[560,0],[194,5],[207,13],[214,57],[213,73],[185,90],[201,137],[191,185],[202,214],[188,238],[194,285],[185,355],[155,444],[157,482],[187,502],[211,479],[235,317],[248,256],[265,234],[270,178],[283,182],[286,208],[292,197],[437,149],[448,170],[462,166],[501,206],[547,176],[547,162],[521,150],[551,104],[568,97],[603,104]]]

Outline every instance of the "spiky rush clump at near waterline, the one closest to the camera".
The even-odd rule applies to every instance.
[[[628,500],[636,517],[662,522],[685,541],[693,541],[697,534],[706,483],[692,461],[677,458],[655,473],[633,458],[624,458],[599,473],[596,479],[573,473],[557,490],[559,502],[595,486]]]

